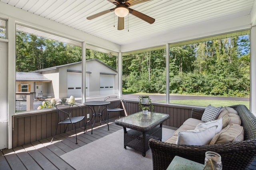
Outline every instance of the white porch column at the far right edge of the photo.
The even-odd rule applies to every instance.
[[[250,62],[250,111],[256,115],[256,26],[252,27],[251,35],[251,62]]]

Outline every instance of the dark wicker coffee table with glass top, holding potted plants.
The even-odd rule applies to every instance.
[[[148,112],[148,115],[143,115],[140,111],[116,119],[115,123],[124,128],[124,148],[130,147],[142,152],[142,156],[146,156],[149,139],[162,141],[162,123],[169,117],[168,114],[157,112]],[[126,127],[129,128],[128,131]]]

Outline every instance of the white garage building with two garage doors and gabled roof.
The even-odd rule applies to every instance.
[[[82,62],[36,70],[52,80],[48,94],[56,99],[82,96]],[[86,61],[86,97],[117,95],[117,70],[98,59]]]

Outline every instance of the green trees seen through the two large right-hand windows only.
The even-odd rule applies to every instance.
[[[131,55],[124,61],[124,90],[165,93],[165,56],[165,49]],[[249,36],[171,47],[169,72],[171,94],[248,97]]]

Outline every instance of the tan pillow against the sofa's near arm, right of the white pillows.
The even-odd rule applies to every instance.
[[[244,141],[244,128],[232,123],[222,129],[220,133],[216,134],[212,138],[212,141],[210,141],[210,145],[242,141]]]

